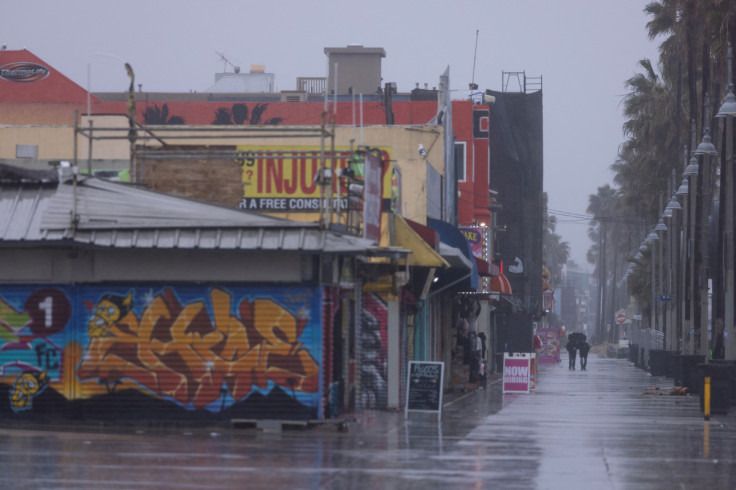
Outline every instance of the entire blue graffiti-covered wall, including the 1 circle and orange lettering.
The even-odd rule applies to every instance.
[[[321,305],[318,287],[0,285],[0,417],[321,418]]]

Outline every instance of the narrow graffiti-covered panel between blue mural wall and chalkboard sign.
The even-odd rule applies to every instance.
[[[388,310],[375,293],[363,294],[360,333],[360,394],[366,408],[388,404]]]

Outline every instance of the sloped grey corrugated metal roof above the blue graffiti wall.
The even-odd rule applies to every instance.
[[[76,221],[76,226],[73,226]],[[97,178],[0,183],[0,244],[379,254],[360,237]],[[392,251],[395,253],[395,251]],[[408,251],[405,251],[408,253]]]

